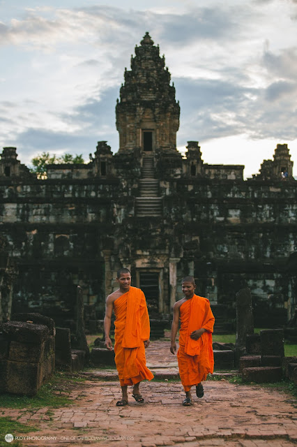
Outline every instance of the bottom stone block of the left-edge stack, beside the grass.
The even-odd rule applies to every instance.
[[[6,392],[21,395],[36,395],[43,383],[43,374],[38,363],[12,362],[6,360]]]

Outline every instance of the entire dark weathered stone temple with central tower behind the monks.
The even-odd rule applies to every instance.
[[[37,179],[15,147],[3,148],[3,321],[12,312],[40,312],[68,325],[79,285],[86,323],[94,326],[122,266],[158,321],[169,320],[188,274],[211,300],[217,328],[220,319],[231,323],[236,293],[245,287],[258,327],[292,318],[297,182],[287,145],[277,144],[273,159],[244,180],[244,166],[204,163],[197,141],[178,152],[179,117],[165,58],[146,33],[116,103],[117,152],[99,141],[89,163],[53,164],[47,179]]]

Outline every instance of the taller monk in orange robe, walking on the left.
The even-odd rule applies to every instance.
[[[145,379],[153,379],[153,374],[146,367],[145,353],[150,342],[150,324],[146,298],[140,288],[131,286],[130,270],[121,268],[117,272],[116,281],[119,288],[108,295],[106,300],[105,346],[109,351],[112,350],[109,332],[114,311],[114,360],[122,389],[122,398],[116,402],[116,406],[125,406],[128,404],[128,385],[133,386],[132,396],[136,402],[144,402],[139,392],[139,383]]]

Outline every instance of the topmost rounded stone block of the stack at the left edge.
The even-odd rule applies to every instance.
[[[8,339],[20,343],[40,344],[50,335],[47,326],[23,321],[3,323],[2,330]]]

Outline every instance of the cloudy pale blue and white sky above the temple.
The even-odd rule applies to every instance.
[[[0,0],[0,147],[119,148],[115,105],[148,31],[181,105],[178,149],[245,177],[287,143],[297,176],[297,0]]]

